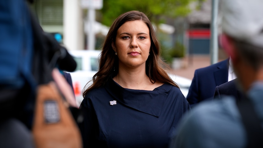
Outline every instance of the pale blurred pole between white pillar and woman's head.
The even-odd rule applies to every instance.
[[[89,0],[88,9],[88,50],[95,50],[95,33],[94,33],[94,23],[95,23],[95,9],[93,7],[93,0]]]

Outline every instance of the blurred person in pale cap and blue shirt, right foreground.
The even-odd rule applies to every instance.
[[[230,96],[198,104],[182,119],[171,147],[262,147],[263,1],[220,2],[221,44],[232,58],[237,87],[247,98],[242,106]]]

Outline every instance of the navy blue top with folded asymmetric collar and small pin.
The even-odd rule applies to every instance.
[[[110,105],[110,101],[116,104]],[[84,147],[167,147],[189,103],[179,88],[123,88],[110,78],[84,97],[80,126]]]

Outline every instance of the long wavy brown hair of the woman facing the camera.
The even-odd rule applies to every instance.
[[[93,76],[93,83],[84,92],[83,97],[92,89],[103,86],[105,82],[118,73],[118,57],[112,49],[111,43],[115,43],[117,30],[127,21],[141,20],[148,26],[151,37],[150,55],[146,61],[146,74],[152,83],[155,81],[169,83],[178,87],[167,74],[170,67],[160,57],[160,45],[149,18],[142,12],[129,11],[121,14],[111,25],[104,40],[102,52],[99,56],[99,71]],[[87,83],[88,84],[88,83]],[[87,86],[87,85],[86,85]],[[178,87],[179,88],[179,87]]]

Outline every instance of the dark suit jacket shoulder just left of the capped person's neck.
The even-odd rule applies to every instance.
[[[214,91],[214,99],[222,99],[222,96],[233,96],[236,101],[240,101],[243,98],[243,92],[236,86],[236,79],[216,86]]]

